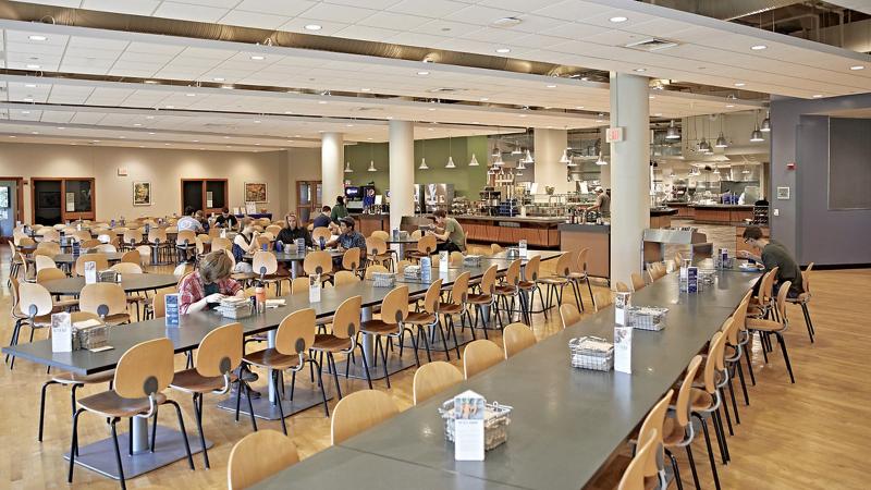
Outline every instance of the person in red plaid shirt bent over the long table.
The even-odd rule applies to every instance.
[[[207,254],[196,271],[179,284],[182,315],[213,308],[224,296],[244,296],[242,285],[230,278],[233,261],[223,250]]]

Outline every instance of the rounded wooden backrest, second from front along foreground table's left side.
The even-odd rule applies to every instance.
[[[383,391],[360,390],[346,395],[333,408],[331,442],[340,444],[398,413],[393,399]]]

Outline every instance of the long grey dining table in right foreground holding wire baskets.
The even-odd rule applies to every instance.
[[[633,293],[634,305],[668,308],[659,332],[635,330],[631,373],[571,366],[568,342],[613,340],[614,308],[600,310],[413,408],[291,466],[256,488],[383,488],[379,476],[405,475],[406,488],[582,488],[609,461],[734,311],[759,274],[713,272],[715,283],[679,292],[677,274]],[[513,407],[507,441],[483,462],[454,461],[438,407],[473,390]],[[414,468],[419,468],[419,478]],[[410,469],[409,469],[410,468]]]

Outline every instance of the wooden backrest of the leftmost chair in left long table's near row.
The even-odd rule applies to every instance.
[[[167,338],[128,348],[115,367],[115,393],[124,399],[143,399],[160,393],[172,381],[173,355],[172,341]]]

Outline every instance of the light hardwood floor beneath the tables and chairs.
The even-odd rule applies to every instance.
[[[5,286],[9,274],[9,254],[0,254],[0,340],[8,343],[11,333],[10,293]],[[790,384],[778,352],[770,355],[764,365],[760,346],[755,345],[753,365],[758,384],[750,387],[750,406],[741,403],[741,425],[728,439],[732,463],[719,466],[723,488],[738,489],[859,489],[868,488],[867,448],[871,439],[871,367],[868,328],[871,307],[867,292],[871,291],[871,270],[813,272],[811,315],[817,328],[817,343],[808,340],[801,311],[789,307],[790,328],[786,332],[796,384]],[[566,299],[569,295],[566,295]],[[589,305],[589,298],[586,297]],[[539,338],[556,331],[559,317],[548,320],[533,318]],[[37,332],[45,338],[45,332]],[[24,336],[24,335],[23,335]],[[665,353],[664,353],[665,354]],[[441,356],[437,356],[441,358]],[[454,364],[459,363],[454,359]],[[176,367],[183,365],[177,356]],[[391,377],[388,391],[402,409],[412,406],[414,369]],[[262,379],[263,377],[261,377]],[[15,369],[0,370],[0,488],[41,489],[68,488],[66,462],[61,454],[70,444],[70,399],[64,388],[51,387],[47,400],[46,436],[36,441],[39,388],[47,379],[45,367],[24,360]],[[749,382],[749,379],[748,379]],[[262,384],[263,382],[258,382]],[[365,381],[343,381],[343,391],[364,389]],[[88,387],[82,395],[105,389]],[[182,405],[188,430],[195,427],[191,399],[168,390],[170,397]],[[211,469],[204,469],[201,457],[195,455],[196,471],[186,462],[174,463],[160,470],[128,481],[130,488],[165,486],[168,488],[225,488],[226,460],[233,443],[250,432],[247,419],[234,422],[232,415],[214,406],[217,396],[206,397],[204,428],[216,445],[209,451]],[[331,408],[335,402],[330,403]],[[162,418],[173,424],[172,417]],[[258,420],[261,428],[281,430],[280,422]],[[119,425],[125,430],[126,425]],[[287,419],[287,430],[297,444],[300,456],[307,457],[329,445],[330,424],[321,407],[314,407]],[[109,436],[103,419],[85,414],[79,421],[83,444]],[[159,444],[159,440],[158,440]],[[699,476],[704,488],[713,488],[703,441],[694,444]],[[686,461],[678,454],[686,488],[691,476]],[[719,461],[719,456],[717,456]],[[73,488],[116,488],[116,483],[93,471],[76,468]],[[580,485],[579,485],[580,487]],[[409,482],[407,488],[414,488]]]

